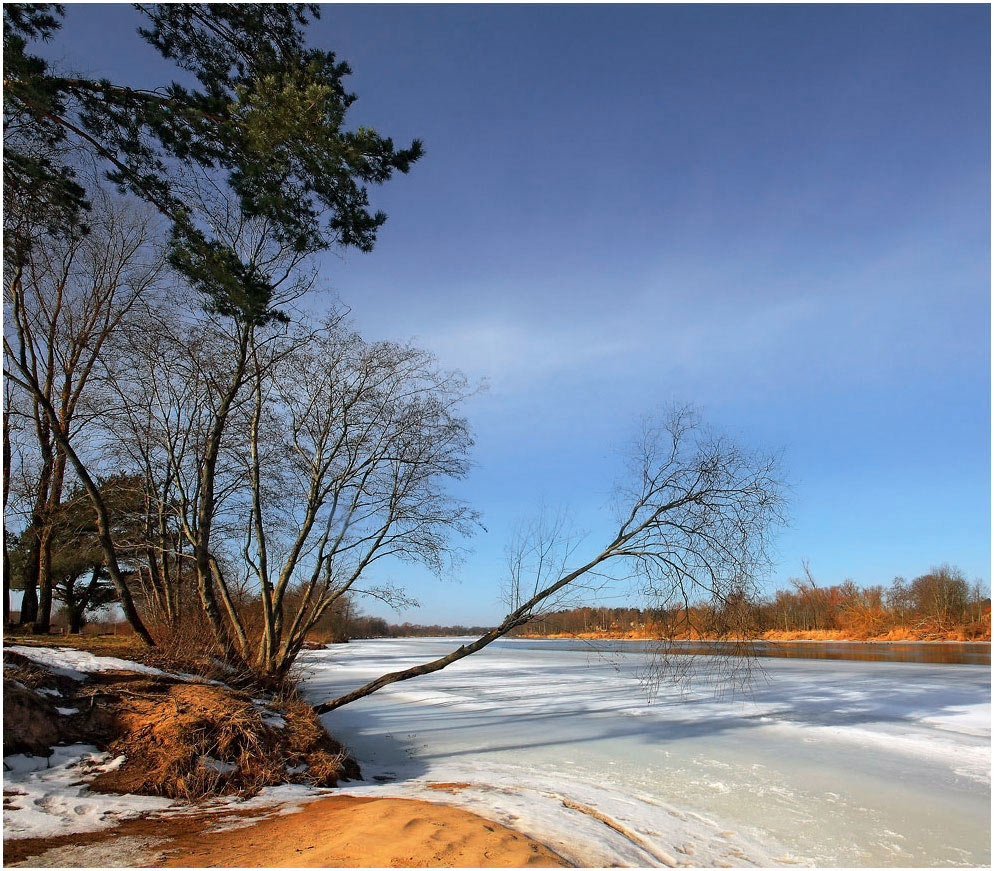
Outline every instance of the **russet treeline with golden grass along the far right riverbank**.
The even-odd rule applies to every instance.
[[[889,586],[861,587],[847,580],[818,586],[805,571],[791,588],[769,596],[733,598],[726,613],[702,605],[671,609],[582,607],[545,615],[518,630],[523,635],[625,634],[666,637],[810,635],[853,639],[960,639],[990,637],[989,592],[948,565]],[[729,619],[728,611],[734,611]],[[709,632],[708,627],[723,627]]]

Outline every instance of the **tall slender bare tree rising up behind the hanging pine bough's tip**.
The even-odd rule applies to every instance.
[[[212,235],[247,265],[246,282],[263,282],[270,289],[267,307],[219,312],[209,303],[210,293],[204,297],[206,308],[193,300],[184,305],[160,299],[117,343],[108,383],[118,398],[116,426],[128,433],[125,450],[148,482],[146,556],[153,601],[167,620],[175,620],[170,593],[177,587],[169,582],[169,563],[180,563],[172,574],[176,580],[189,566],[220,651],[237,662],[246,656],[247,633],[215,552],[216,524],[238,486],[232,468],[244,472],[254,358],[260,347],[279,343],[286,332],[284,309],[313,287],[314,273],[305,255],[281,241],[270,222],[247,218],[210,178],[192,178],[183,193]],[[210,277],[204,281],[209,284]],[[225,292],[230,296],[236,290]],[[189,299],[190,294],[178,296]],[[185,549],[176,546],[176,531]],[[227,538],[232,531],[220,532]]]

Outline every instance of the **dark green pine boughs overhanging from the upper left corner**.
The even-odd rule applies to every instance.
[[[62,24],[57,4],[4,6],[4,184],[10,220],[35,228],[85,223],[73,166],[79,149],[122,190],[170,222],[172,262],[223,314],[265,320],[269,276],[210,232],[177,190],[191,171],[219,178],[246,217],[265,216],[297,251],[329,245],[368,251],[386,216],[367,185],[406,173],[422,154],[375,130],[347,130],[354,102],[348,64],[308,47],[318,8],[302,4],[147,4],[139,34],[185,71],[154,90],[62,75],[32,44]],[[8,248],[29,244],[13,234]],[[8,250],[8,255],[16,251]]]

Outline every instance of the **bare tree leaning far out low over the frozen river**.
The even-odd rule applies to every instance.
[[[385,674],[315,706],[319,714],[389,684],[439,671],[539,616],[548,603],[591,575],[632,578],[650,597],[689,604],[706,596],[729,603],[769,564],[772,535],[784,521],[784,483],[775,456],[746,451],[717,435],[692,409],[647,420],[615,500],[613,539],[575,568],[575,537],[539,523],[510,551],[509,601],[499,626],[446,656]]]

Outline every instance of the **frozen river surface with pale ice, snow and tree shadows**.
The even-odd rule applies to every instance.
[[[305,654],[312,701],[463,639]],[[359,794],[429,798],[583,865],[990,864],[990,668],[764,659],[745,695],[639,682],[645,654],[510,640],[323,722]]]

